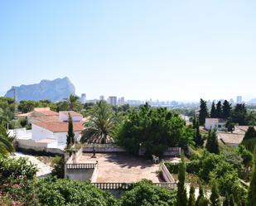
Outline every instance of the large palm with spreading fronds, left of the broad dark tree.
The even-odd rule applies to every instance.
[[[116,116],[113,108],[104,101],[96,103],[89,111],[89,121],[85,122],[81,142],[85,143],[110,143],[113,142]]]

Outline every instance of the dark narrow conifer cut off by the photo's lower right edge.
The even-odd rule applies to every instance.
[[[249,184],[247,202],[250,206],[256,206],[256,148],[254,149],[254,169]]]

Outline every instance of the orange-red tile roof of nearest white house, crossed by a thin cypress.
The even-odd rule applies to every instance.
[[[33,123],[38,127],[43,127],[51,132],[68,132],[68,122],[35,122]],[[74,132],[84,130],[82,122],[73,122]]]

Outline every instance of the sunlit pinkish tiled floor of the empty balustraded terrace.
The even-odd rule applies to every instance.
[[[99,183],[131,183],[142,179],[152,180],[154,183],[161,182],[158,177],[159,165],[153,165],[151,160],[124,154],[92,154],[84,153],[78,163],[88,163],[98,160]]]

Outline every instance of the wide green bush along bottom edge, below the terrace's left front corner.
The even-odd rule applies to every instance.
[[[49,206],[115,206],[114,197],[92,184],[74,180],[46,178],[39,180],[38,199]]]

